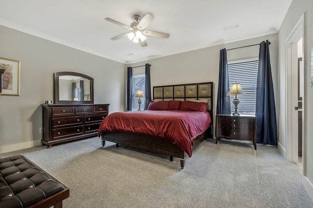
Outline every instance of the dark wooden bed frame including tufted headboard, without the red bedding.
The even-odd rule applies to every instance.
[[[207,111],[211,116],[212,125],[193,140],[192,149],[199,146],[204,139],[213,138],[213,98],[213,82],[153,87],[153,100],[155,101],[208,101]],[[105,141],[110,141],[116,143],[116,147],[120,144],[150,152],[169,155],[171,161],[173,161],[173,157],[178,157],[180,159],[180,167],[184,168],[185,165],[186,152],[184,152],[176,144],[173,144],[164,138],[133,133],[103,132],[101,139],[102,146],[105,145]]]

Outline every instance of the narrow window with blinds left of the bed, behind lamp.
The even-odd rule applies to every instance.
[[[141,90],[142,93],[145,95],[145,74],[137,74],[137,75],[133,75],[133,107],[132,110],[136,111],[139,108],[138,105],[138,100],[139,98],[135,98],[136,92],[137,90]],[[144,98],[140,98],[141,100],[141,105],[140,108],[143,110],[144,106],[145,106],[145,99]]]

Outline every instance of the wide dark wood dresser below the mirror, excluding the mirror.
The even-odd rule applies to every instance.
[[[109,104],[42,104],[47,148],[54,144],[97,136],[99,125],[108,115]]]

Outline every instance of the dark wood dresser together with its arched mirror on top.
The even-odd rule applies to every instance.
[[[54,73],[54,104],[42,104],[43,139],[54,144],[97,136],[109,104],[93,104],[93,79],[76,72]]]

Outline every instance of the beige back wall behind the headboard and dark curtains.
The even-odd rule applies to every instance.
[[[277,34],[262,36],[239,42],[232,42],[199,50],[189,51],[167,57],[128,64],[127,66],[139,66],[150,63],[151,95],[153,96],[153,86],[214,82],[214,115],[216,114],[216,99],[219,81],[220,50],[231,49],[246,45],[258,44],[268,40],[270,62],[273,77],[275,101],[277,106],[277,60],[278,60],[278,36]],[[227,61],[240,59],[251,59],[259,57],[259,46],[251,46],[227,51]],[[278,111],[277,111],[278,112]],[[215,124],[214,124],[215,125]],[[215,128],[214,128],[215,129]]]

